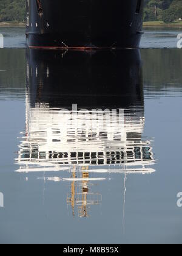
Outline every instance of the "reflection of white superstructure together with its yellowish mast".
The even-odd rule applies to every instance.
[[[67,204],[72,215],[76,208],[78,217],[88,217],[90,206],[102,201],[102,195],[92,191],[95,182],[112,173],[126,177],[155,172],[150,168],[155,163],[151,141],[142,139],[144,121],[142,108],[78,110],[73,105],[66,110],[49,104],[32,108],[27,97],[26,132],[16,172],[44,172],[44,182],[69,182]]]

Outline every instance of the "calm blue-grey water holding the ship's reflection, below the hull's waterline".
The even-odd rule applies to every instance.
[[[1,49],[0,241],[181,243],[181,64]]]

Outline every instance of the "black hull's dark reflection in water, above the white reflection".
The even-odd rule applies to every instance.
[[[139,49],[47,51],[27,49],[30,106],[144,109]]]

